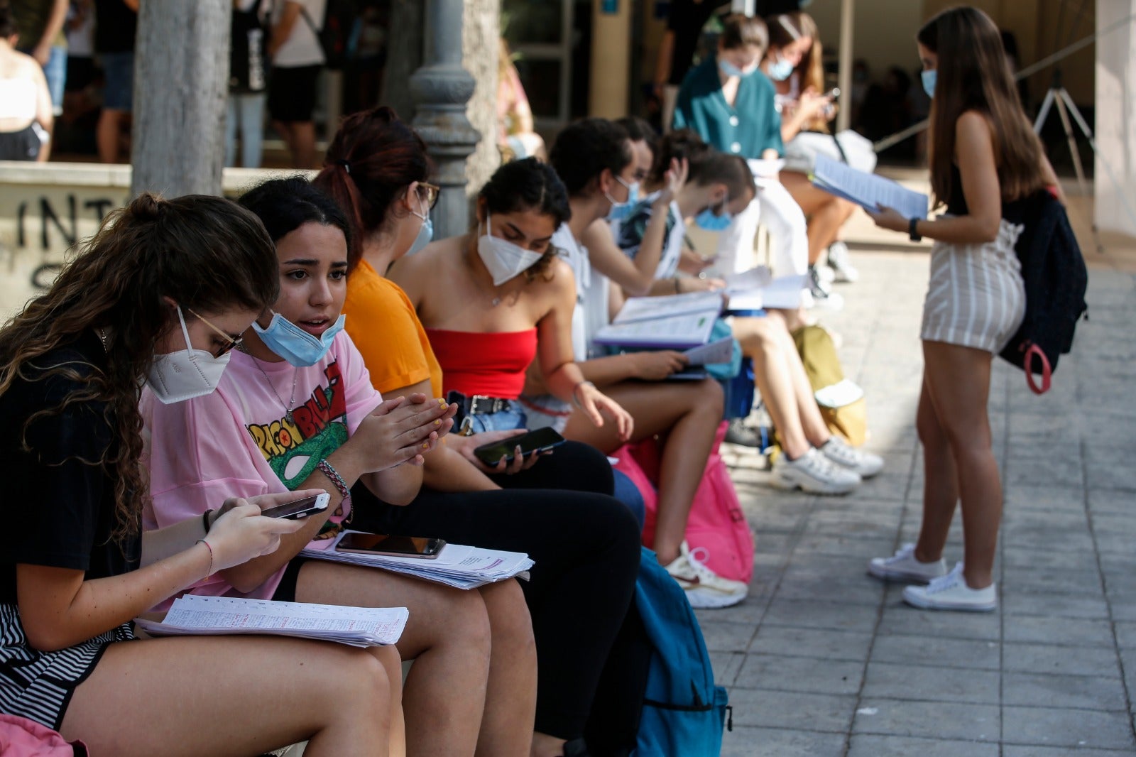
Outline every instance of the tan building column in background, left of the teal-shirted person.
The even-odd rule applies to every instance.
[[[590,116],[623,118],[627,115],[632,5],[632,0],[593,0],[592,70],[587,94]],[[612,6],[616,13],[608,13]]]

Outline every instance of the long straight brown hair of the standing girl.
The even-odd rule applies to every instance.
[[[1002,200],[1044,186],[1042,143],[1021,108],[994,22],[977,8],[951,8],[927,22],[916,39],[938,57],[928,157],[935,205],[951,197],[955,122],[968,110],[989,122]]]

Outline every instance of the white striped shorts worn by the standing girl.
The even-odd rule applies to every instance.
[[[935,242],[920,339],[1002,351],[1026,314],[1021,265],[1013,251],[1021,230],[1002,219],[993,242]]]

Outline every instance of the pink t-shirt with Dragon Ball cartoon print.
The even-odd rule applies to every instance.
[[[148,531],[200,516],[229,497],[298,489],[382,402],[345,331],[307,368],[265,363],[235,350],[232,356],[210,394],[162,405],[149,389],[142,392],[143,461],[150,468],[153,500],[142,514]],[[293,397],[289,423],[285,409]],[[331,522],[337,524],[349,511],[336,509]],[[311,546],[326,544],[327,533]],[[268,599],[283,573],[281,568],[248,593],[216,575],[190,591]]]

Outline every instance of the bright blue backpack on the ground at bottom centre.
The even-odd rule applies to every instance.
[[[643,548],[635,605],[651,642],[636,757],[718,757],[728,696],[715,685],[699,621],[682,588]],[[733,715],[728,726],[734,730]]]

